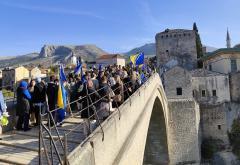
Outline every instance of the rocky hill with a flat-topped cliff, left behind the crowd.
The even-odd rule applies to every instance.
[[[31,53],[15,57],[0,58],[0,68],[12,67],[17,65],[42,65],[48,67],[55,63],[67,63],[74,53],[84,61],[95,61],[100,55],[106,54],[105,51],[95,45],[44,45],[40,53]]]

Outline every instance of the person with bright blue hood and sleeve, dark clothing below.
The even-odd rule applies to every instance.
[[[17,88],[17,130],[28,131],[29,128],[29,112],[31,95],[27,89],[28,84],[22,81]]]

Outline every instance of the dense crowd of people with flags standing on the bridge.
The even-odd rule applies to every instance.
[[[69,73],[64,81],[68,106],[64,112],[80,112],[81,118],[104,120],[152,74],[153,66],[90,67],[81,74]],[[48,83],[37,78],[21,81],[17,88],[17,130],[28,131],[39,125],[39,113],[51,112],[49,124],[62,125],[64,116],[57,110],[59,77],[51,75]],[[96,113],[97,112],[97,113]],[[30,121],[30,122],[29,122]],[[31,126],[30,126],[31,125]]]

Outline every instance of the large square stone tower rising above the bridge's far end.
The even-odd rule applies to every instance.
[[[166,29],[156,35],[156,55],[159,69],[180,65],[185,69],[197,68],[196,31]]]

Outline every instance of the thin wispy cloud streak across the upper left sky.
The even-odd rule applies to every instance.
[[[34,5],[26,5],[26,4],[8,3],[8,2],[1,2],[1,4],[8,7],[19,8],[24,10],[32,10],[32,11],[46,12],[46,13],[67,14],[67,15],[81,15],[81,16],[94,17],[97,19],[104,19],[104,17],[89,11],[79,11],[79,10],[71,10],[71,9],[58,8],[58,7],[34,6]]]

